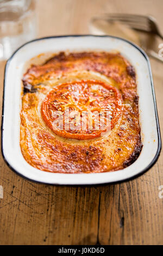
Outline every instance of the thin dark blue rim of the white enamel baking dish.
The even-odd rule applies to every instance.
[[[128,42],[128,44],[134,46],[137,50],[139,50],[141,52],[141,54],[145,57],[147,63],[148,63],[148,69],[149,69],[149,75],[150,75],[150,80],[151,80],[151,87],[152,87],[152,95],[153,95],[153,101],[154,101],[154,109],[155,109],[155,119],[156,119],[156,128],[157,128],[157,132],[158,132],[158,149],[156,151],[156,154],[153,158],[153,160],[151,161],[151,163],[148,164],[148,166],[146,168],[144,168],[143,170],[141,170],[140,173],[135,174],[133,176],[131,176],[128,179],[124,179],[124,180],[120,180],[120,181],[114,181],[114,182],[106,182],[106,183],[102,183],[102,184],[80,184],[80,185],[62,185],[62,184],[49,184],[48,182],[41,182],[41,181],[36,181],[33,179],[29,179],[26,176],[22,175],[21,173],[17,172],[17,170],[15,170],[11,164],[7,161],[7,159],[5,159],[4,156],[4,152],[3,152],[3,121],[4,121],[4,98],[5,98],[5,77],[7,74],[7,70],[8,70],[8,66],[10,64],[11,59],[14,57],[14,55],[16,54],[17,51],[19,51],[23,46],[29,44],[30,42],[34,42],[34,41],[40,41],[40,40],[45,40],[45,39],[52,39],[52,38],[67,38],[67,37],[82,37],[82,36],[92,36],[92,37],[101,37],[101,38],[115,38],[115,39],[120,39],[122,41],[126,41]],[[4,161],[7,163],[7,165],[9,166],[9,168],[11,170],[13,170],[16,174],[22,176],[22,178],[25,178],[27,180],[33,181],[33,182],[37,182],[37,183],[42,183],[42,184],[49,184],[49,185],[59,185],[59,186],[102,186],[102,185],[106,185],[106,184],[116,184],[116,183],[120,183],[120,182],[125,182],[125,181],[129,181],[131,179],[137,178],[138,176],[142,175],[143,173],[147,172],[147,170],[149,170],[150,168],[152,168],[152,166],[156,163],[156,161],[159,158],[160,155],[160,151],[161,151],[161,135],[160,135],[160,125],[159,125],[159,118],[158,118],[158,109],[156,106],[156,98],[155,98],[155,92],[154,92],[154,85],[153,85],[153,78],[152,78],[152,70],[151,70],[151,64],[149,62],[149,58],[147,56],[147,54],[137,45],[135,45],[133,42],[130,42],[126,39],[123,38],[119,38],[118,36],[112,36],[112,35],[91,35],[91,34],[86,34],[86,35],[58,35],[58,36],[46,36],[43,38],[38,38],[38,39],[34,39],[31,41],[26,42],[25,44],[23,44],[22,46],[20,46],[19,48],[17,48],[17,50],[11,55],[11,57],[8,59],[6,65],[5,65],[5,69],[4,69],[4,83],[3,83],[3,104],[2,104],[2,123],[1,123],[1,150],[2,150],[2,156]]]

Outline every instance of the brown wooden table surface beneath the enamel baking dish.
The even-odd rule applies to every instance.
[[[163,25],[161,0],[37,1],[39,37],[86,34],[99,13],[152,14]],[[163,133],[163,64],[151,59]],[[3,72],[1,63],[1,105]],[[21,178],[1,156],[0,243],[2,245],[161,245],[163,243],[163,153],[147,173],[105,186],[49,186]]]

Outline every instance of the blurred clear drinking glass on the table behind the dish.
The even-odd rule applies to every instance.
[[[0,60],[36,36],[34,0],[0,0]]]

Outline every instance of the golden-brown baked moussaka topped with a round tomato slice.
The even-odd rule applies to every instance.
[[[20,145],[47,172],[120,170],[142,143],[134,67],[120,53],[60,52],[23,75]]]

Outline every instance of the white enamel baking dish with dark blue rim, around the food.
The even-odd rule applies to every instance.
[[[120,51],[135,67],[143,148],[129,167],[116,172],[90,174],[49,173],[30,166],[20,149],[21,79],[25,63],[40,53],[59,51]],[[58,185],[93,185],[124,181],[151,168],[161,150],[160,129],[156,109],[151,66],[145,52],[121,38],[113,36],[70,35],[36,39],[12,54],[5,68],[2,153],[12,170],[27,179]]]

